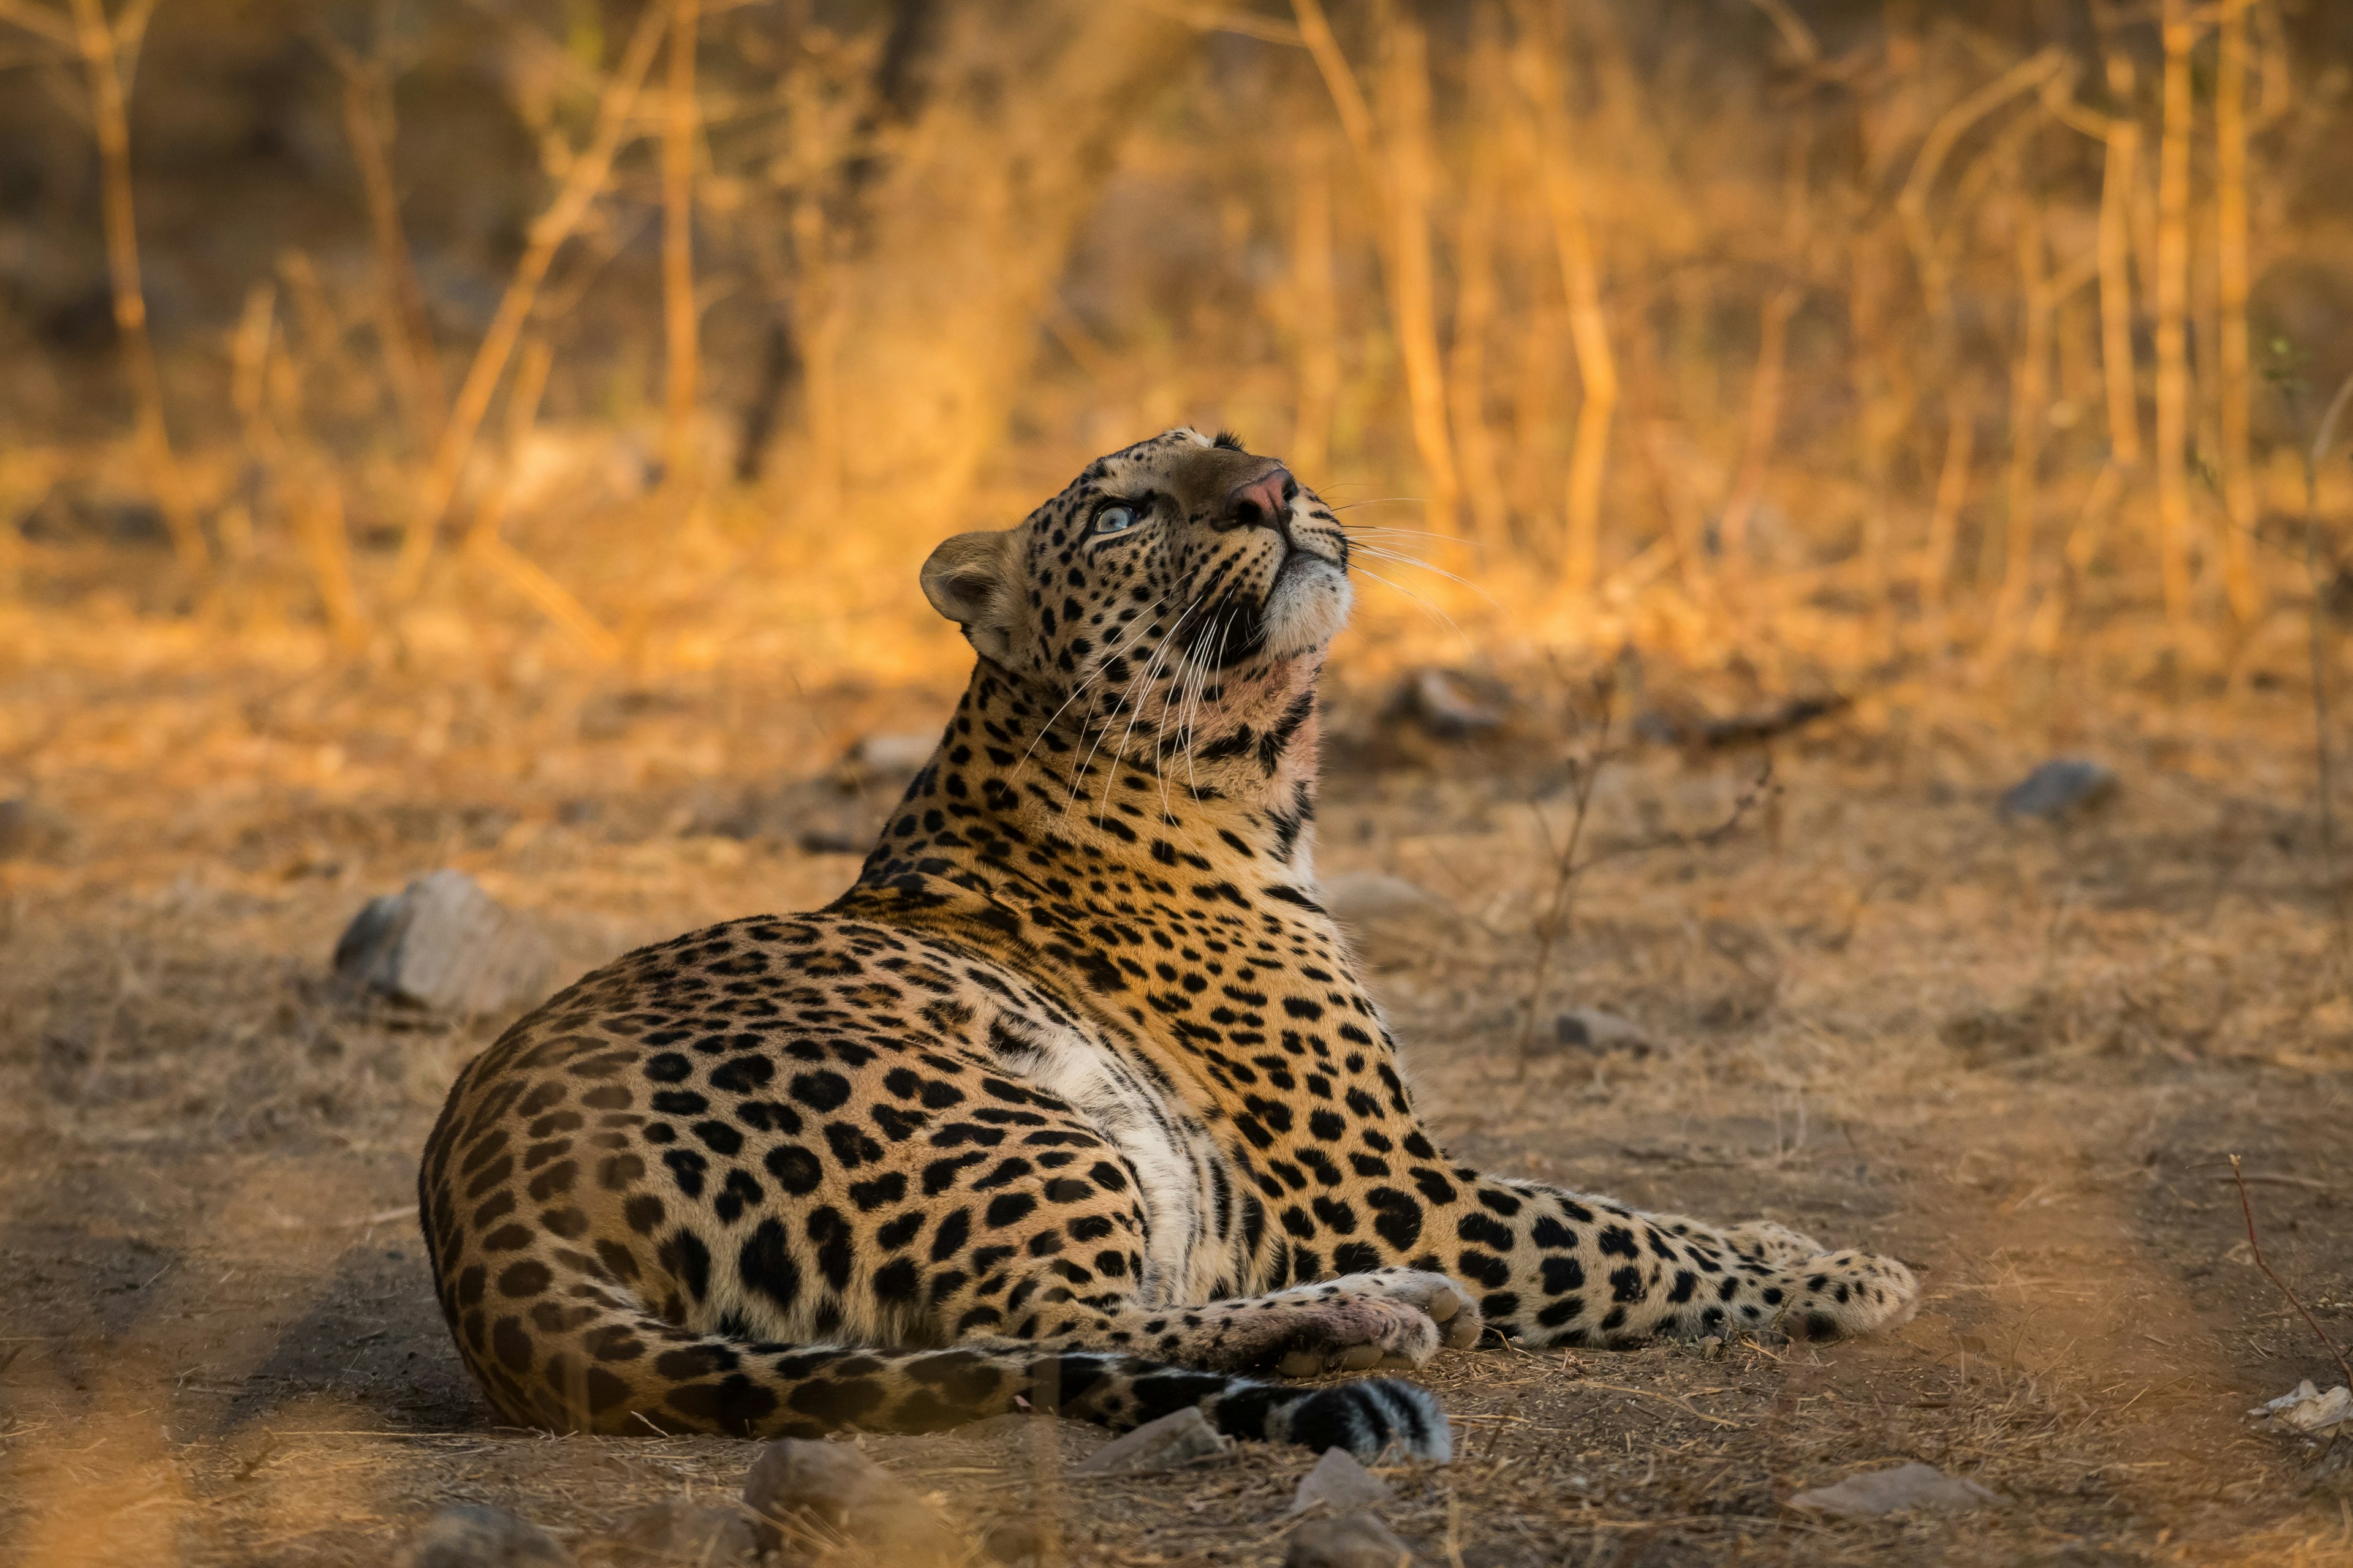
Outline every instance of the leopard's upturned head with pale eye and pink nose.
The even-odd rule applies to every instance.
[[[1235,733],[1304,712],[1353,597],[1332,510],[1198,430],[1096,458],[1019,527],[958,534],[922,592],[1052,729],[1132,762],[1235,755]]]

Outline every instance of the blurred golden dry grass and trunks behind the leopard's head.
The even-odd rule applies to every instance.
[[[0,0],[0,599],[941,672],[932,541],[1198,423],[1457,661],[2301,679],[2348,66],[2327,0]]]

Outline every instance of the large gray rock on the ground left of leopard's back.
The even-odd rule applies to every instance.
[[[334,945],[334,976],[346,987],[435,1013],[539,1001],[553,973],[555,954],[539,931],[459,870],[367,900]]]

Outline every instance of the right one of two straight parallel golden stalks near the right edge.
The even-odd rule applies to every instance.
[[[2247,355],[2247,12],[2254,0],[2221,0],[2221,54],[2214,78],[2214,263],[2219,284],[2217,400],[2221,402],[2224,595],[2240,625],[2261,614],[2254,581],[2254,458],[2247,416],[2254,393]]]

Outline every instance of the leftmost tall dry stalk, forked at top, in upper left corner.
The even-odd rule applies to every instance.
[[[106,223],[106,273],[113,282],[115,331],[122,339],[122,376],[136,409],[139,465],[172,531],[172,550],[188,571],[212,559],[205,524],[195,517],[188,475],[172,449],[162,411],[162,371],[148,336],[146,287],[139,277],[139,221],[132,207],[132,127],[122,85],[122,54],[139,47],[155,0],[132,5],[118,24],[106,21],[99,0],[71,0],[73,42],[89,82],[89,125],[99,141],[99,209]]]

